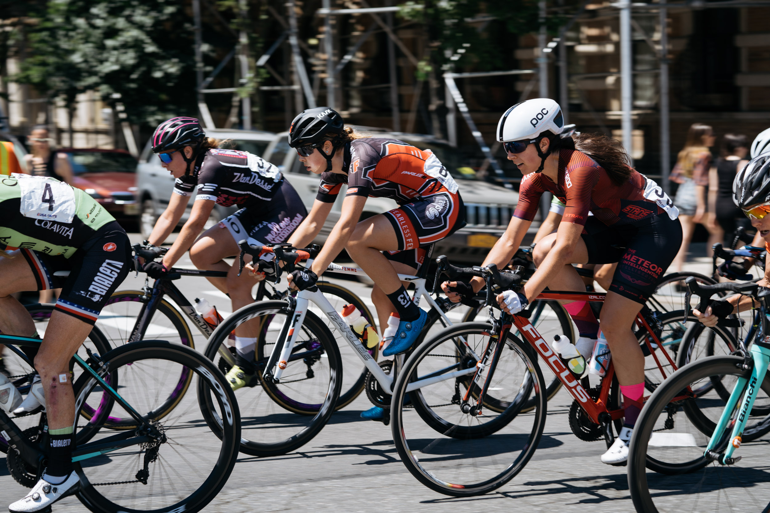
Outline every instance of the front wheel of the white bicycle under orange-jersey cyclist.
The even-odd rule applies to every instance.
[[[248,455],[283,455],[302,447],[329,421],[340,396],[342,362],[336,341],[311,311],[280,383],[263,379],[267,358],[291,315],[286,306],[286,301],[260,301],[240,308],[216,327],[206,347],[206,358],[221,366],[232,358],[226,346],[229,332],[251,319],[260,323],[257,346],[263,346],[266,357],[256,362],[259,382],[236,391],[243,415],[241,451]],[[216,431],[221,420],[206,408],[204,418]]]

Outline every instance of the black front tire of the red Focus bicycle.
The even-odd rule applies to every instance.
[[[450,429],[453,429],[453,426],[458,426],[461,428],[460,432],[452,432],[449,435],[444,436],[444,438],[435,438],[436,433],[442,433],[442,431],[437,431],[434,425],[429,424],[427,428],[419,427],[420,423],[424,424],[425,418],[423,415],[420,415],[420,410],[418,409],[420,406],[418,405],[426,405],[427,399],[425,398],[425,394],[428,393],[428,388],[432,385],[425,385],[422,388],[418,388],[417,390],[409,392],[407,392],[407,386],[414,381],[414,373],[417,372],[420,363],[423,362],[424,358],[430,356],[430,351],[433,351],[435,348],[437,348],[443,341],[446,341],[447,338],[450,339],[453,338],[453,336],[457,337],[460,334],[465,334],[467,337],[470,334],[477,332],[486,332],[488,336],[488,329],[489,325],[486,323],[469,322],[450,326],[449,328],[441,331],[438,335],[427,339],[423,342],[422,345],[420,345],[420,347],[415,349],[412,355],[410,355],[410,357],[407,359],[406,363],[403,365],[399,377],[397,378],[396,386],[393,390],[393,398],[390,407],[390,428],[393,435],[393,441],[396,445],[401,461],[407,467],[410,473],[423,485],[444,495],[450,495],[454,497],[480,495],[499,488],[508,481],[511,481],[511,479],[514,478],[514,476],[517,475],[525,465],[527,465],[527,462],[530,460],[534,454],[534,451],[537,449],[537,444],[540,441],[544,430],[547,400],[545,395],[541,393],[541,391],[545,389],[543,375],[540,371],[540,367],[534,365],[534,360],[530,356],[530,351],[527,351],[527,345],[510,334],[507,338],[506,347],[501,348],[501,350],[514,351],[517,357],[520,358],[523,362],[524,368],[526,369],[524,370],[524,373],[526,373],[527,376],[531,376],[531,379],[534,379],[534,382],[531,381],[530,385],[531,390],[534,391],[534,395],[537,400],[534,413],[519,415],[521,414],[521,406],[524,405],[526,398],[529,397],[529,391],[524,389],[523,391],[519,392],[521,394],[521,399],[513,401],[514,404],[511,405],[511,415],[498,415],[501,420],[493,421],[495,424],[490,425],[488,430],[490,432],[488,433],[482,432],[487,431],[486,428],[477,430],[478,432],[474,433],[471,430],[468,430],[467,426],[460,426],[458,424],[450,425],[446,421],[441,422],[443,419],[438,419],[437,422],[444,426],[450,426],[447,430],[444,431],[444,433]],[[454,344],[454,342],[452,344]],[[407,405],[403,405],[404,398],[407,393],[410,396],[410,401],[413,403],[413,405],[415,405],[415,408],[413,409],[417,410],[418,418],[407,418],[407,411],[412,409]],[[459,405],[456,407],[459,411]],[[436,407],[427,406],[427,408]],[[427,408],[423,407],[423,410]],[[492,475],[491,477],[484,476],[483,478],[480,478],[481,481],[467,483],[463,482],[460,484],[457,483],[456,480],[453,483],[448,481],[446,478],[438,476],[437,468],[426,467],[426,465],[430,466],[433,464],[444,465],[442,466],[442,471],[444,468],[446,468],[447,472],[453,472],[455,475],[457,475],[458,472],[462,474],[462,471],[464,471],[466,468],[471,470],[476,469],[481,473],[489,474],[490,465],[464,465],[464,463],[457,458],[457,455],[468,455],[469,458],[474,458],[483,453],[484,450],[494,451],[495,455],[498,455],[502,450],[500,441],[511,440],[511,438],[507,438],[510,437],[510,435],[504,433],[500,434],[502,428],[510,426],[514,421],[514,418],[524,417],[530,418],[532,421],[532,428],[529,430],[528,434],[521,435],[521,438],[525,439],[518,441],[518,439],[514,437],[514,443],[517,445],[517,447],[521,446],[521,451],[518,451],[517,448],[514,448],[514,451],[517,451],[518,454],[515,457],[511,456],[514,458],[513,461],[510,464],[504,463],[503,465],[507,466],[505,466],[505,468],[497,474]],[[526,421],[523,421],[522,423],[524,422]],[[406,427],[407,424],[408,428]],[[410,440],[407,440],[407,437],[412,436],[410,434],[412,425],[414,425],[416,431],[419,432],[415,433],[415,442],[410,447]],[[425,433],[429,433],[430,431],[423,431],[423,429],[432,430],[433,435],[425,435]],[[527,431],[526,426],[522,431]],[[454,436],[458,434],[460,436]],[[498,434],[500,434],[500,439],[493,439],[494,437],[497,437]],[[423,438],[426,436],[428,438]],[[490,436],[491,438],[483,438],[484,441],[482,442],[478,439],[478,436]],[[430,437],[434,437],[434,439],[430,441]],[[447,444],[448,448],[446,450],[444,450],[444,444]],[[467,448],[470,447],[470,444],[474,444],[474,450]],[[484,445],[482,446],[480,444]],[[422,447],[418,449],[417,445],[422,445]],[[463,449],[460,448],[459,445],[467,445],[467,447]],[[510,446],[510,442],[508,445]],[[437,453],[438,456],[436,458],[431,458],[430,453],[427,451]],[[419,457],[417,456],[417,452],[420,452]],[[452,457],[447,458],[448,455],[452,455]],[[492,470],[492,472],[494,472],[494,470]]]

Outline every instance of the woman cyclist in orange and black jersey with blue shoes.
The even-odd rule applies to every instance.
[[[348,186],[342,215],[323,250],[310,270],[294,271],[290,281],[300,290],[313,286],[345,248],[374,281],[372,301],[380,328],[391,313],[400,318],[396,338],[383,355],[407,351],[427,314],[407,295],[398,273],[416,273],[425,256],[421,246],[465,225],[457,183],[430,150],[357,134],[331,108],[309,108],[294,118],[289,144],[309,172],[321,175],[316,201],[289,239],[292,245],[301,248],[315,238],[340,189]],[[392,198],[400,207],[359,222],[369,196]]]

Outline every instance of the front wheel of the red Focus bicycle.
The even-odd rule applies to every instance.
[[[445,495],[479,495],[504,485],[527,465],[543,433],[543,375],[524,342],[510,334],[490,381],[490,390],[505,398],[508,407],[497,413],[485,404],[477,416],[460,410],[460,398],[476,368],[464,341],[483,353],[489,328],[468,322],[429,338],[403,365],[393,391],[391,432],[401,461],[423,485]],[[458,354],[463,355],[459,360]],[[450,374],[465,369],[469,374]],[[413,381],[441,375],[447,379],[409,388]],[[404,405],[407,393],[410,401]],[[522,413],[531,394],[535,408]]]

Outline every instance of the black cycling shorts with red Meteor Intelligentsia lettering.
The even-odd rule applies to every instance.
[[[644,305],[679,252],[681,223],[665,212],[620,226],[590,216],[582,238],[589,264],[618,262],[610,291]]]

